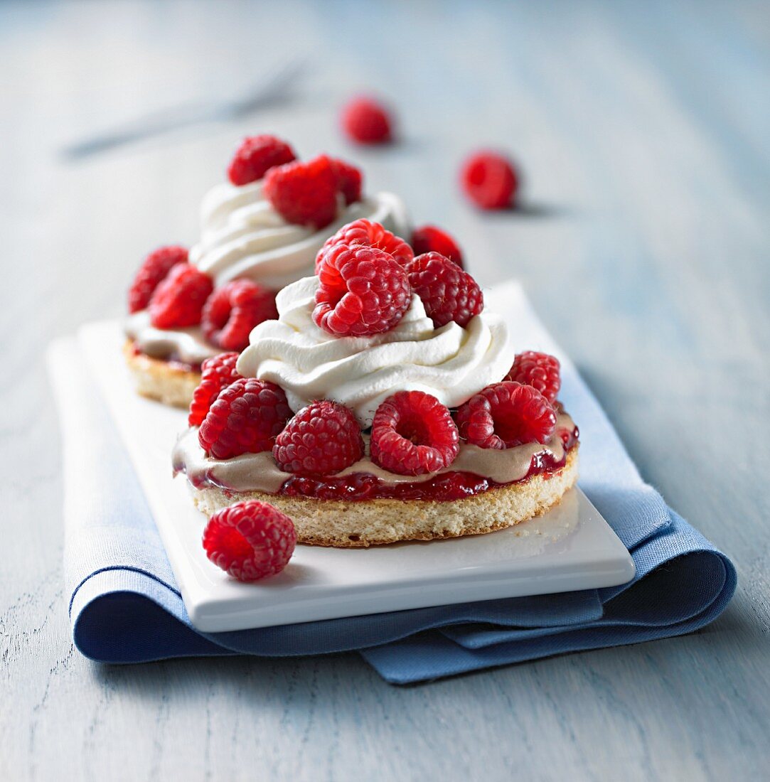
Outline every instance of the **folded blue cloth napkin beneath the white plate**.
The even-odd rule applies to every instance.
[[[525,315],[536,323],[531,311]],[[716,619],[736,588],[729,559],[640,479],[593,395],[564,361],[560,396],[581,429],[580,483],[631,552],[632,582],[200,633],[189,622],[152,515],[74,339],[52,346],[49,368],[63,430],[64,559],[73,642],[101,662],[357,650],[385,680],[411,683],[689,633]]]

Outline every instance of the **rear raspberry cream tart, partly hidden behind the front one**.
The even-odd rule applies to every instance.
[[[313,274],[343,225],[366,219],[409,236],[396,195],[366,195],[356,167],[295,160],[273,136],[245,139],[227,173],[203,199],[199,242],[151,253],[129,292],[124,355],[138,392],[166,404],[187,407],[202,362],[242,350],[255,325],[276,317],[275,292]]]

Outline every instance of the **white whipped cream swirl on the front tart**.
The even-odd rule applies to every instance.
[[[278,320],[252,331],[238,372],[278,383],[289,407],[333,399],[351,408],[362,428],[396,391],[424,391],[457,407],[510,369],[513,350],[499,315],[482,312],[462,327],[434,328],[412,296],[396,328],[366,337],[338,337],[313,322],[317,277],[288,285],[276,300]]]

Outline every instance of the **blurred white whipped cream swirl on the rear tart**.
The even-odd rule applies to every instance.
[[[345,206],[321,231],[287,223],[264,195],[263,180],[236,187],[224,182],[206,194],[201,206],[201,239],[190,262],[210,274],[217,286],[248,278],[281,289],[313,274],[318,250],[343,225],[366,217],[409,239],[409,219],[401,199],[378,193]]]

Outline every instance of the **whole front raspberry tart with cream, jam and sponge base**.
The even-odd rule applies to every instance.
[[[350,244],[346,228],[237,361],[207,370],[173,454],[196,506],[260,500],[299,543],[366,547],[488,533],[556,504],[578,467],[557,360],[514,357],[446,257],[401,263],[378,231],[379,246]]]

